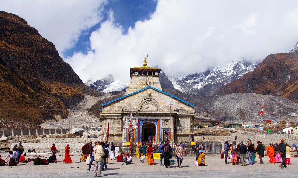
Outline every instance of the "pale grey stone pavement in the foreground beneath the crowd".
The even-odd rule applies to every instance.
[[[0,167],[1,177],[71,177],[83,178],[93,177],[93,171],[88,171],[88,166],[85,162],[79,162],[80,156],[78,153],[72,153],[72,164],[63,164],[62,159],[64,154],[57,156],[58,162],[49,165],[34,166],[31,163],[20,163],[15,167],[3,166]],[[2,158],[6,155],[1,154]],[[49,157],[50,154],[43,154],[42,157]],[[41,158],[42,158],[41,157]],[[33,158],[27,156],[26,158]],[[259,158],[255,159],[257,163],[252,166],[225,164],[224,159],[220,159],[220,155],[206,155],[206,166],[193,166],[195,157],[184,157],[182,168],[178,168],[177,163],[171,163],[170,168],[165,169],[160,166],[160,160],[154,160],[155,165],[149,166],[147,159],[142,163],[136,157],[133,157],[131,165],[122,165],[122,162],[116,160],[108,161],[108,170],[102,171],[103,177],[297,177],[298,158],[291,158],[291,165],[281,169],[280,163],[270,164],[269,158],[263,158],[265,164],[258,164]],[[173,160],[176,161],[175,158]],[[248,163],[248,160],[247,160]],[[77,168],[78,167],[78,168]],[[93,165],[91,170],[93,170]]]

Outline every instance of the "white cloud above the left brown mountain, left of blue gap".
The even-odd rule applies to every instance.
[[[82,30],[91,28],[101,19],[106,0],[1,0],[0,10],[16,14],[53,42],[62,55],[71,48]]]

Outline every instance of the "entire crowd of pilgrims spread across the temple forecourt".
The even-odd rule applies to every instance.
[[[111,147],[108,144],[108,141],[105,142],[95,142],[94,145],[93,141],[90,139],[89,143],[85,143],[82,147],[82,156],[80,161],[86,162],[88,166],[88,171],[91,170],[91,165],[94,162],[94,177],[101,177],[102,171],[106,171],[108,160],[117,160],[118,162],[123,162],[122,164],[131,164],[133,159],[131,153],[131,145],[130,145],[130,153],[121,154],[121,152],[115,157],[115,145],[111,142]],[[111,153],[109,155],[109,147]],[[160,154],[160,166],[164,166],[164,168],[170,168],[170,161],[176,162],[173,160],[172,157],[176,158],[178,168],[182,168],[182,161],[183,157],[186,154],[184,150],[184,144],[182,142],[176,144],[175,151],[172,152],[172,147],[168,141],[162,141],[160,144],[154,146],[156,151],[159,151]],[[196,145],[196,157],[195,157],[195,166],[205,166],[205,153],[204,149],[205,146],[202,142],[199,142]],[[218,148],[221,154],[221,159],[225,159],[225,163],[228,163],[230,159],[232,165],[241,165],[241,166],[248,166],[254,165],[257,161],[255,158],[259,157],[259,164],[264,164],[263,157],[267,155],[269,157],[269,162],[271,164],[281,163],[280,168],[287,168],[287,165],[291,165],[291,148],[287,143],[284,143],[282,139],[280,144],[271,143],[269,146],[265,146],[261,141],[257,141],[254,144],[251,140],[248,139],[247,143],[244,144],[243,141],[229,143],[225,141],[224,145],[219,142]],[[153,144],[151,142],[148,145],[144,144],[144,142],[139,142],[136,146],[135,155],[142,163],[144,163],[144,159],[148,160],[148,165],[152,166],[155,165],[153,159]],[[293,151],[296,151],[296,145],[293,145]],[[29,149],[28,152],[35,152],[34,148]],[[52,155],[49,159],[42,159],[40,156],[37,155],[35,159],[26,159],[25,156],[27,155],[26,152],[24,153],[24,147],[20,142],[18,145],[15,145],[12,150],[9,151],[5,159],[1,158],[0,155],[0,166],[16,166],[19,163],[27,163],[32,162],[34,165],[44,165],[49,163],[57,163],[56,153],[59,151],[55,147],[55,143],[52,144],[51,153]],[[65,146],[65,157],[62,160],[62,163],[72,163],[72,159],[70,157],[70,146],[66,144]],[[174,153],[172,155],[172,153]],[[248,164],[246,159],[248,159]]]

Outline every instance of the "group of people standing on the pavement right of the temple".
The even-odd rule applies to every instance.
[[[221,143],[218,144],[218,147],[222,147]],[[293,149],[296,150],[296,145],[293,145]],[[238,144],[236,141],[232,144],[226,141],[221,158],[225,159],[226,164],[228,164],[227,160],[231,159],[233,165],[247,166],[256,163],[255,158],[257,155],[260,159],[259,164],[264,164],[263,157],[265,155],[269,157],[268,163],[281,163],[280,168],[282,169],[291,164],[291,147],[289,144],[284,143],[284,139],[281,139],[280,144],[270,143],[267,147],[261,141],[257,141],[256,144],[251,140],[248,140],[246,144],[243,141]],[[248,164],[246,159],[248,159]]]

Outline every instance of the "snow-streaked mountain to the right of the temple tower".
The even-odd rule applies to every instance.
[[[244,60],[194,74],[167,75],[174,87],[186,94],[212,96],[221,86],[251,72],[257,63]]]

